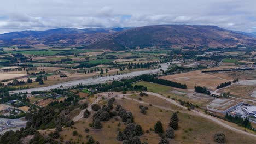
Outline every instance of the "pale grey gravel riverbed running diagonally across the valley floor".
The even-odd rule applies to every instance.
[[[31,88],[31,89],[25,89],[25,90],[9,91],[9,93],[13,94],[13,93],[19,93],[19,92],[31,93],[32,91],[49,91],[51,89],[60,88],[60,87],[68,88],[68,87],[71,87],[71,86],[75,86],[79,83],[83,83],[83,85],[92,85],[92,84],[97,84],[97,83],[105,83],[107,81],[119,80],[119,79],[124,79],[124,78],[128,78],[128,77],[139,76],[139,75],[143,75],[143,74],[158,73],[160,71],[160,69],[167,70],[167,68],[169,66],[167,63],[162,63],[162,64],[159,64],[159,65],[161,65],[161,68],[158,68],[158,69],[134,71],[134,72],[127,73],[127,74],[106,76],[106,77],[98,77],[98,78],[95,78],[95,79],[94,78],[89,78],[89,79],[74,80],[74,81],[59,83],[59,84],[48,86],[48,87],[38,87],[38,88]]]

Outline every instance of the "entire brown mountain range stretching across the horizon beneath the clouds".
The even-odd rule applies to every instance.
[[[217,26],[156,25],[135,28],[57,28],[0,34],[0,46],[80,45],[85,49],[124,50],[132,47],[255,46],[253,33]]]

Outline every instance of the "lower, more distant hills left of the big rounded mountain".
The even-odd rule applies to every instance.
[[[46,31],[22,31],[0,35],[1,45],[31,45],[43,43],[45,45],[58,44],[91,44],[110,32],[103,28],[57,28]]]

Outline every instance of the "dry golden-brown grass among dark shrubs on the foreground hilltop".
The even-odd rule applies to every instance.
[[[155,100],[149,98],[152,104],[155,103]],[[143,97],[143,99],[147,99]],[[135,118],[135,123],[140,124],[144,131],[149,130],[154,127],[156,121],[160,120],[164,126],[164,130],[168,127],[168,122],[170,121],[170,117],[173,112],[160,110],[158,108],[148,106],[149,110],[147,110],[147,114],[143,115],[139,111],[139,105],[137,102],[127,99],[118,100],[117,104],[122,105],[127,111],[131,111]],[[179,109],[177,109],[179,110]],[[92,115],[87,119],[82,118],[80,121],[76,122],[74,128],[63,128],[61,131],[61,136],[63,140],[72,140],[74,142],[82,143],[86,142],[86,135],[92,135],[96,141],[100,143],[112,144],[112,143],[121,143],[117,141],[115,138],[117,136],[118,130],[124,130],[125,124],[121,122],[120,127],[118,127],[118,123],[120,122],[120,118],[118,121],[115,119],[111,119],[108,122],[102,122],[103,128],[100,130],[93,129],[89,127],[89,123],[92,122]],[[208,119],[178,113],[178,117],[180,119],[179,129],[175,131],[176,137],[174,140],[171,140],[171,143],[214,143],[213,136],[215,133],[222,132],[226,135],[226,143],[253,143],[255,141],[254,138],[248,136],[241,136],[240,134],[235,133],[234,131],[230,131],[219,125],[208,121]],[[89,128],[89,133],[85,133],[84,129]],[[73,131],[78,132],[78,136],[73,136]],[[49,131],[42,132],[44,135],[49,133]],[[148,143],[158,143],[160,137],[155,134],[153,131],[149,130],[149,133],[144,133],[141,136],[142,142]]]

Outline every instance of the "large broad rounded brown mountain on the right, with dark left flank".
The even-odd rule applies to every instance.
[[[113,41],[125,47],[235,47],[256,45],[256,39],[217,26],[158,25],[128,29],[97,41],[97,45]],[[94,44],[96,45],[96,44]],[[90,46],[89,46],[90,47]],[[111,47],[108,47],[111,48]]]

